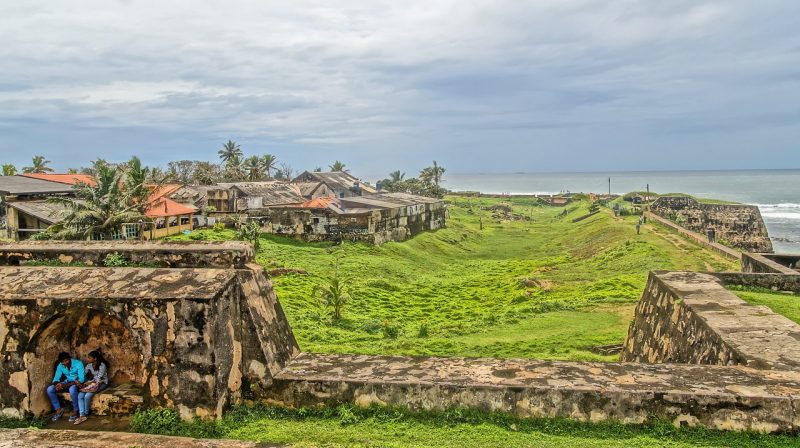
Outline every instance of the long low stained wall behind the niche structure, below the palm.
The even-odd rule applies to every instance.
[[[27,261],[102,266],[119,253],[133,265],[168,268],[242,268],[254,259],[242,241],[24,241],[0,243],[0,265]]]

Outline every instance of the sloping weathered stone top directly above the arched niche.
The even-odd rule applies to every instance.
[[[210,300],[233,270],[0,267],[0,301],[37,299]]]

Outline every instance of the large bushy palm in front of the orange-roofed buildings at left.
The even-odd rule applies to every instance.
[[[100,164],[96,165],[96,171],[95,185],[78,183],[74,187],[74,198],[49,199],[67,209],[64,220],[52,227],[55,239],[100,237],[110,240],[122,230],[123,224],[147,219],[141,211],[142,204],[131,194],[142,187],[135,180],[139,173],[123,178],[121,169]]]

